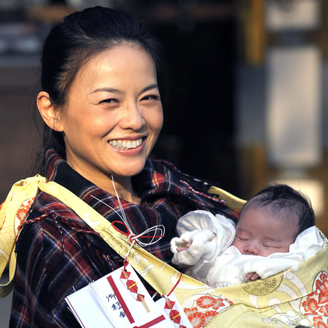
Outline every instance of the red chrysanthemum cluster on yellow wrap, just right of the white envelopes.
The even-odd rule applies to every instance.
[[[194,328],[205,327],[217,314],[229,309],[233,302],[223,297],[214,297],[210,294],[201,295],[194,300],[190,308],[185,311]]]

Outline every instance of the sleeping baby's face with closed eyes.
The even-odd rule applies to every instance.
[[[241,254],[269,256],[289,252],[298,232],[298,218],[277,218],[265,208],[245,208],[232,242]]]

